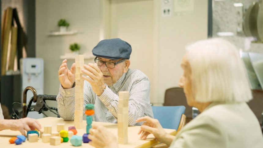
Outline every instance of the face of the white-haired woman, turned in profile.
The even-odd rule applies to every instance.
[[[179,80],[179,87],[183,87],[186,101],[189,106],[194,106],[194,93],[192,90],[191,66],[188,60],[188,54],[185,54],[181,63],[183,68],[183,76]]]

